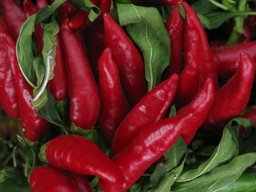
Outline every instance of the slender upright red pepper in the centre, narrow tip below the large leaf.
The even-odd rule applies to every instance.
[[[115,130],[130,111],[130,104],[122,91],[118,66],[112,51],[106,48],[98,60],[98,89],[101,98],[99,126],[108,142]]]

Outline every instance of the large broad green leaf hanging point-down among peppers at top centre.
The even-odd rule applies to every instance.
[[[118,4],[118,18],[130,38],[142,51],[148,90],[160,82],[170,64],[170,38],[161,15],[154,7]]]

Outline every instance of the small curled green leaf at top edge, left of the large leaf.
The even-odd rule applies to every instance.
[[[98,18],[98,15],[101,14],[101,11],[98,9],[98,7],[90,2],[90,0],[69,0],[69,2],[80,10],[89,11],[90,14],[88,17],[91,22],[94,22],[94,20]]]

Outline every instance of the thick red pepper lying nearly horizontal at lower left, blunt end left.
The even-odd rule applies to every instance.
[[[74,134],[53,138],[46,146],[46,162],[62,170],[90,174],[113,186],[125,185],[125,178],[116,164],[87,138]]]

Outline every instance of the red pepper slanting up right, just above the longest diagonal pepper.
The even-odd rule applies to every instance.
[[[178,74],[172,74],[166,81],[147,93],[126,118],[114,134],[112,152],[118,154],[146,126],[164,118],[178,89]]]

